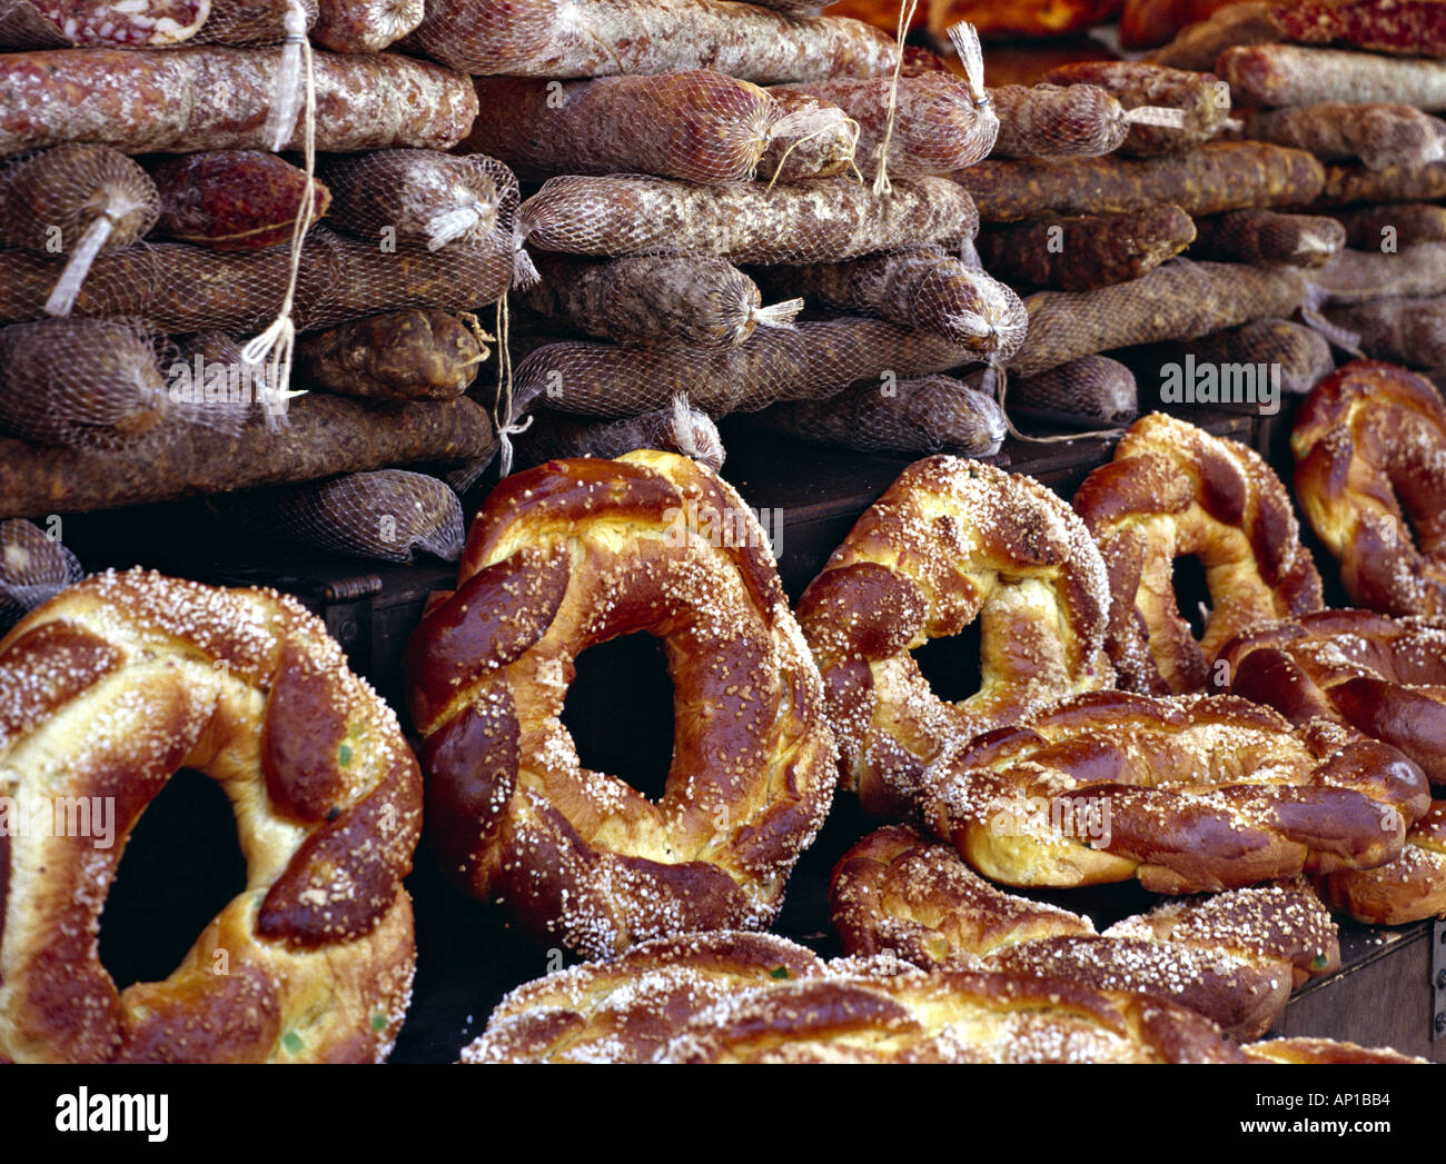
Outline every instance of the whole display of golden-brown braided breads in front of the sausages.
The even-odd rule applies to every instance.
[[[466,1060],[1391,1058],[1242,1043],[1339,966],[1327,905],[1446,910],[1446,408],[1414,373],[1348,364],[1296,444],[1346,587],[1411,610],[1322,610],[1281,482],[1161,414],[1073,508],[979,461],[918,461],[797,610],[710,470],[551,461],[490,493],[411,639],[416,759],[294,602],[82,581],[0,641],[13,820],[113,797],[123,846],[195,768],[233,798],[247,891],[171,979],[117,992],[95,934],[120,846],[0,833],[0,1053],[385,1058],[425,817],[464,891],[589,962],[519,988]],[[1199,638],[1180,555],[1206,567]],[[982,687],[943,703],[911,652],[975,619]],[[636,632],[675,684],[656,801],[586,769],[561,719],[577,656]],[[837,787],[897,823],[834,869],[830,963],[755,931]],[[1164,899],[1103,933],[1012,892],[1121,881]]]

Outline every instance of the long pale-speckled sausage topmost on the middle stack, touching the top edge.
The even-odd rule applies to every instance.
[[[729,0],[429,0],[406,42],[480,77],[615,77],[711,68],[775,85],[873,77],[898,45],[859,20]]]

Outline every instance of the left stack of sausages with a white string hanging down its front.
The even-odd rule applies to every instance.
[[[0,0],[0,518],[492,454],[518,185],[421,19]]]

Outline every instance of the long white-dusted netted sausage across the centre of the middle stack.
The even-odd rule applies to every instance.
[[[847,178],[766,187],[578,176],[548,181],[518,208],[515,226],[519,239],[570,254],[808,263],[969,239],[979,218],[949,178],[901,179],[875,195]]]

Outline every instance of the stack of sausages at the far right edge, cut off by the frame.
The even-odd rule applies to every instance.
[[[1446,366],[1446,7],[1417,0],[1212,4],[1152,59],[1212,69],[1242,140],[1307,150],[1323,166],[1312,213],[1340,243],[1312,275],[1342,348]],[[1139,4],[1138,45],[1176,32]]]

